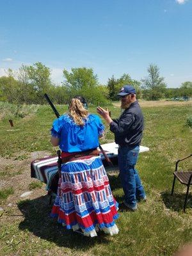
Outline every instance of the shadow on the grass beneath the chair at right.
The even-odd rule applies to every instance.
[[[171,191],[165,191],[161,193],[161,198],[163,199],[164,205],[168,209],[172,209],[173,211],[180,212],[183,209],[184,200],[186,193],[173,193],[171,195]],[[188,202],[186,205],[186,211],[192,207],[192,195],[189,193]]]

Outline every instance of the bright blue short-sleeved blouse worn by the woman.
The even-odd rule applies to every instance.
[[[99,147],[99,136],[104,132],[104,125],[99,116],[90,114],[84,118],[84,125],[77,125],[74,120],[63,115],[52,123],[51,135],[60,138],[60,148],[64,152],[82,152]]]

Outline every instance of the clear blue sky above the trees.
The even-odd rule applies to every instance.
[[[0,76],[41,61],[52,81],[91,67],[99,82],[155,63],[168,87],[192,81],[192,0],[6,0],[0,3]]]

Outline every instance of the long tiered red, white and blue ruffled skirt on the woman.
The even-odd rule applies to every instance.
[[[61,166],[61,178],[51,216],[67,229],[97,236],[98,230],[118,234],[118,203],[100,157],[78,159]]]

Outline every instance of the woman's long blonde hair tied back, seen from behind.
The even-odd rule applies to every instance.
[[[77,125],[84,125],[83,118],[88,116],[88,111],[83,108],[83,104],[78,99],[72,99],[68,108],[68,114]]]

